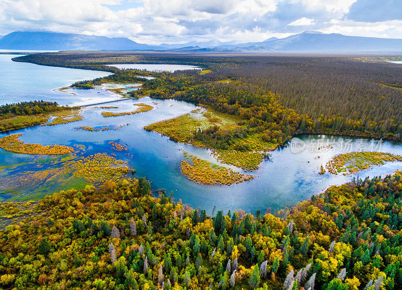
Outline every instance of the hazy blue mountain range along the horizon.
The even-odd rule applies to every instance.
[[[1,37],[0,37],[1,38]],[[402,52],[402,39],[345,36],[305,31],[262,42],[191,41],[184,44],[147,45],[128,38],[83,34],[13,32],[0,39],[0,49],[12,50],[136,50],[172,52],[303,52],[370,51]]]

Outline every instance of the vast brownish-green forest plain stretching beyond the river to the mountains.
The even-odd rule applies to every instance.
[[[402,131],[402,90],[398,87],[402,67],[378,58],[60,52],[13,60],[88,69],[104,69],[106,63],[198,65],[212,72],[163,73],[146,80],[138,93],[194,100],[228,112],[239,111],[239,106],[266,111],[261,118],[250,115],[250,119],[254,117],[251,126],[266,120],[279,122],[277,130],[282,131],[283,141],[294,131],[396,139]],[[119,71],[116,78],[130,81],[130,75],[133,77],[129,70]],[[294,118],[287,116],[280,124],[281,117],[275,120],[272,113],[277,106],[283,106],[284,112],[294,111]],[[281,110],[278,114],[285,117],[287,113]],[[265,127],[272,133],[273,129]]]

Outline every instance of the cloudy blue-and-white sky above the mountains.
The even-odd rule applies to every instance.
[[[0,1],[0,35],[51,31],[160,44],[263,41],[305,30],[402,38],[402,0]]]

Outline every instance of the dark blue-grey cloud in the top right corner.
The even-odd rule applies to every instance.
[[[402,3],[400,0],[357,0],[346,19],[358,22],[402,20]]]

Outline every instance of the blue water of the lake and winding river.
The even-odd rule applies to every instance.
[[[91,103],[98,99],[120,98],[105,89],[72,89],[67,93],[53,90],[79,79],[90,79],[108,73],[16,63],[10,60],[11,57],[0,55],[2,62],[0,65],[0,100],[3,103],[39,98],[57,101],[60,104],[74,104]],[[4,79],[4,76],[7,80]],[[8,82],[14,83],[15,86],[3,86]],[[19,84],[20,86],[18,86]],[[331,136],[326,135],[300,135],[293,138],[291,142],[302,144],[304,150],[295,153],[295,147],[289,146],[271,152],[271,159],[261,163],[260,169],[251,173],[255,178],[250,182],[232,186],[198,185],[188,181],[180,174],[179,167],[183,159],[183,151],[218,164],[210,152],[176,143],[157,133],[143,130],[147,124],[190,112],[195,105],[172,99],[159,100],[149,97],[139,100],[126,99],[108,105],[119,106],[110,111],[124,112],[133,110],[135,108],[133,104],[139,102],[150,104],[154,106],[154,109],[134,115],[105,118],[100,114],[105,109],[89,106],[83,111],[81,121],[56,126],[24,128],[9,133],[0,133],[0,137],[21,132],[24,133],[21,140],[25,142],[44,145],[57,143],[68,146],[83,144],[87,148],[86,155],[115,153],[117,159],[127,161],[129,167],[136,169],[136,177],[146,177],[150,180],[152,189],[164,188],[167,192],[173,191],[173,196],[177,201],[181,199],[183,203],[192,207],[205,208],[210,213],[214,206],[225,211],[243,209],[254,212],[261,209],[265,212],[269,207],[279,209],[306,200],[331,185],[342,184],[353,178],[353,176],[328,173],[319,175],[321,165],[325,165],[331,157],[339,153],[357,150],[362,148],[362,144],[366,149],[369,146],[368,142],[362,143],[358,138],[337,136],[332,139]],[[95,132],[74,130],[75,127],[80,126],[118,126],[126,123],[130,124],[123,126],[120,130]],[[120,142],[128,148],[128,151],[113,151],[108,144],[111,140]],[[332,148],[322,147],[326,145],[327,141],[331,142]],[[378,145],[376,142],[374,144]],[[402,147],[400,143],[385,141],[381,144],[381,151],[401,155]],[[129,153],[130,156],[125,153]],[[36,158],[0,150],[0,167],[27,161],[35,162]],[[395,162],[374,167],[359,173],[359,176],[385,175],[397,169],[402,169],[402,163]],[[4,170],[2,176],[5,176],[8,171],[9,169]],[[10,197],[12,195],[3,195],[4,199]]]

